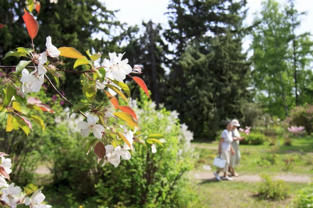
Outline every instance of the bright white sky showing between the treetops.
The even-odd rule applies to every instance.
[[[121,22],[130,25],[140,25],[142,20],[152,20],[155,23],[161,23],[166,27],[168,0],[102,0],[109,10],[120,10],[116,13],[116,17]],[[248,15],[245,21],[246,25],[250,25],[253,21],[254,13],[261,10],[262,0],[248,0]],[[280,3],[286,0],[278,0]],[[313,0],[297,0],[295,5],[299,12],[307,11],[308,14],[302,19],[302,25],[297,33],[312,32],[313,33]],[[251,43],[251,37],[244,39],[243,48],[246,51]]]

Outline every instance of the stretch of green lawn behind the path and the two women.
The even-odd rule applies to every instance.
[[[279,141],[283,144],[283,141]],[[195,171],[204,171],[203,165],[211,165],[217,154],[218,142],[197,143],[193,142],[195,151],[199,152],[199,159],[195,164]],[[292,140],[292,146],[252,146],[241,145],[241,163],[236,167],[240,174],[305,174],[313,175],[313,138],[303,137]],[[263,159],[262,159],[263,158]],[[286,160],[293,159],[290,167],[287,167]],[[264,161],[267,160],[267,161]],[[269,160],[269,161],[268,161]]]

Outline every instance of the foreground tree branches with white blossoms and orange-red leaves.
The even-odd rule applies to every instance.
[[[51,1],[57,3],[57,1]],[[27,1],[27,7],[35,8],[36,1]],[[40,5],[40,4],[39,4]],[[40,9],[40,8],[39,8]],[[128,64],[128,59],[123,59],[124,54],[109,53],[109,60],[104,59],[101,64],[97,64],[101,58],[100,53],[92,54],[90,50],[83,56],[79,51],[70,47],[57,48],[52,44],[52,38],[47,37],[46,50],[36,52],[33,40],[38,32],[38,23],[35,18],[24,9],[23,20],[25,22],[28,34],[31,38],[32,48],[19,47],[17,51],[8,52],[3,59],[9,56],[24,57],[27,60],[21,60],[16,66],[0,67],[2,93],[0,95],[0,121],[6,121],[6,132],[12,132],[21,129],[27,136],[33,131],[32,124],[37,123],[43,130],[45,123],[40,116],[33,115],[32,111],[45,111],[54,113],[53,109],[40,99],[28,96],[30,93],[41,91],[44,82],[55,90],[61,99],[69,104],[69,117],[74,113],[81,114],[84,118],[77,123],[80,134],[88,138],[86,153],[93,150],[97,156],[98,163],[102,160],[102,165],[111,163],[118,167],[121,157],[130,159],[131,152],[136,146],[143,145],[150,153],[155,153],[156,145],[164,146],[165,138],[161,134],[145,135],[139,127],[139,119],[135,111],[127,106],[120,105],[115,96],[119,96],[129,102],[130,89],[124,83],[126,76],[131,77],[143,89],[149,97],[148,89],[144,81],[130,73],[141,73],[141,67],[135,65],[132,68]],[[73,69],[61,69],[64,62],[59,57],[76,59]],[[76,67],[84,65],[87,70],[77,70]],[[11,70],[13,69],[13,70]],[[59,92],[52,79],[58,84],[63,73],[81,74],[82,92],[88,102],[78,102],[72,104],[65,96]],[[77,86],[75,86],[77,87]],[[106,95],[102,104],[96,106],[93,102],[97,92],[103,91]],[[110,105],[106,103],[110,101]],[[60,119],[60,118],[58,118]],[[120,126],[118,120],[122,120]],[[9,170],[3,169],[1,174],[8,175]],[[3,180],[0,180],[4,183]],[[13,184],[14,186],[14,184]],[[19,191],[10,186],[10,190],[4,189],[5,195],[3,201],[12,201],[13,207]],[[13,194],[14,193],[14,194]],[[18,194],[16,194],[18,193]],[[27,193],[26,195],[28,195]],[[43,195],[38,190],[32,197],[25,198],[25,203],[30,207],[49,207],[41,205]],[[15,202],[14,202],[14,200]],[[42,200],[42,201],[41,201]],[[6,202],[7,203],[7,202]]]

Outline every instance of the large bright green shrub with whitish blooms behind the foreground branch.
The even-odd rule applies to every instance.
[[[132,158],[122,161],[118,168],[106,164],[96,186],[97,201],[107,206],[123,202],[127,207],[191,207],[196,197],[188,188],[186,173],[193,168],[192,133],[179,124],[177,112],[162,106],[155,110],[155,104],[143,98],[140,103],[131,100],[130,106],[142,132],[165,136],[165,148],[150,154],[138,145]]]

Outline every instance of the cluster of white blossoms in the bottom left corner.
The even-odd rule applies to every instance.
[[[14,183],[8,184],[7,180],[10,180],[9,174],[12,172],[11,159],[5,158],[9,156],[4,152],[0,152],[0,204],[3,207],[16,208],[18,204],[25,204],[30,208],[49,208],[51,205],[47,205],[45,195],[41,192],[44,187],[38,188],[35,184],[27,184],[22,191],[19,186],[15,186]]]

